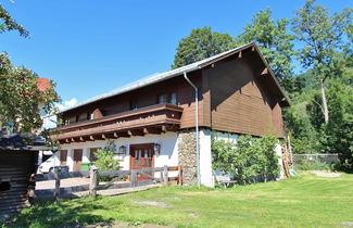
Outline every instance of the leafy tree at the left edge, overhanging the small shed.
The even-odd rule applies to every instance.
[[[27,37],[28,31],[18,25],[0,5],[0,33],[17,30]],[[53,111],[59,101],[54,83],[38,88],[38,75],[25,67],[13,66],[7,53],[0,53],[0,126],[9,131],[35,132],[42,126],[40,114]],[[40,105],[40,106],[39,106]],[[45,135],[45,132],[43,132]]]

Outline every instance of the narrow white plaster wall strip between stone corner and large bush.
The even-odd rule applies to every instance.
[[[209,130],[200,130],[199,139],[201,185],[213,188],[214,178],[212,174],[211,132]]]

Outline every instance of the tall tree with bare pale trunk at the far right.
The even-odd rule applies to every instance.
[[[341,74],[342,50],[348,47],[345,40],[352,26],[352,10],[329,15],[327,9],[314,5],[315,0],[307,0],[298,10],[293,18],[292,30],[301,42],[299,60],[306,68],[314,68],[314,75],[320,85],[323,114],[329,122],[329,111],[325,93],[325,83],[329,77]]]

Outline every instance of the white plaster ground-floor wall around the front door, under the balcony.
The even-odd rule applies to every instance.
[[[130,138],[118,138],[114,140],[116,150],[119,147],[126,147],[126,155],[115,155],[114,159],[119,160],[119,166],[122,169],[129,169],[130,165],[130,144],[141,143],[159,143],[161,144],[161,154],[154,154],[154,167],[177,166],[178,165],[178,145],[177,145],[177,134],[166,132],[162,135],[147,135]],[[89,149],[90,148],[103,148],[106,144],[105,140],[75,142],[70,144],[62,144],[61,150],[67,150],[67,165],[70,170],[73,170],[73,151],[74,149],[83,149],[83,163],[89,162]],[[116,151],[117,152],[117,151]],[[172,174],[172,173],[169,173]],[[157,176],[159,174],[156,174]],[[176,174],[175,174],[176,175]],[[171,175],[172,176],[172,175]]]

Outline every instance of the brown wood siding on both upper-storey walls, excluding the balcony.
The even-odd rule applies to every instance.
[[[261,136],[283,136],[279,101],[282,94],[270,75],[262,75],[266,67],[256,51],[251,49],[231,55],[212,66],[188,73],[199,88],[199,126],[215,130]],[[194,90],[182,75],[130,92],[106,98],[63,114],[64,119],[90,115],[100,110],[110,116],[131,109],[157,103],[157,96],[177,93],[177,105],[182,107],[180,129],[193,128]],[[78,118],[79,121],[80,118]]]

